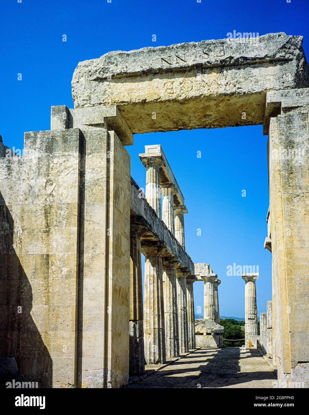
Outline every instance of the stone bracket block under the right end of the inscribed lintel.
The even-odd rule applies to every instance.
[[[286,112],[302,112],[309,107],[309,88],[270,91],[266,94],[263,134],[268,135],[270,118]]]

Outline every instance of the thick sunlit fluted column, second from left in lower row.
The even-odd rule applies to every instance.
[[[144,276],[144,348],[147,364],[166,362],[162,247],[143,245]]]

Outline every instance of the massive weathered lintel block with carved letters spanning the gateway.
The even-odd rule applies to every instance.
[[[262,124],[267,91],[307,86],[302,37],[281,32],[108,52],[78,63],[72,96],[119,105],[134,134]]]

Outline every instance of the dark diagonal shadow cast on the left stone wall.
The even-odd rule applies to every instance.
[[[15,232],[15,238],[21,236]],[[0,388],[6,388],[6,383],[13,379],[38,382],[39,388],[50,388],[52,361],[44,344],[48,342],[48,318],[44,318],[48,304],[32,306],[32,286],[14,242],[14,220],[0,192]],[[32,260],[29,255],[24,263]],[[44,340],[31,311],[42,326]]]

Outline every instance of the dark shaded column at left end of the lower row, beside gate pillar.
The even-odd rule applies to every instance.
[[[129,308],[129,374],[142,375],[145,372],[142,261],[140,237],[147,227],[131,223],[130,225],[130,308]]]

